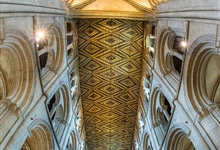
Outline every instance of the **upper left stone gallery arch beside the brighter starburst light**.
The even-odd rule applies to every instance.
[[[63,64],[65,53],[62,33],[62,28],[57,23],[52,23],[45,29],[45,38],[37,42],[39,65],[43,75],[49,70],[58,71]]]

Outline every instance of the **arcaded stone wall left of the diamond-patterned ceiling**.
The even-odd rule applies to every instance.
[[[76,48],[67,51],[65,3],[0,3],[1,149],[80,149],[78,56]],[[37,39],[40,31],[45,35]],[[74,34],[71,43],[76,40]]]

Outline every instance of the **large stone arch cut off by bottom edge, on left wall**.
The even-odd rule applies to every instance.
[[[36,119],[30,125],[30,137],[26,139],[21,150],[52,150],[52,131],[49,124],[41,119]]]

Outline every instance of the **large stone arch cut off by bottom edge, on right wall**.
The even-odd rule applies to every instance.
[[[167,150],[195,150],[190,138],[190,129],[184,124],[172,126],[167,134],[165,148]]]

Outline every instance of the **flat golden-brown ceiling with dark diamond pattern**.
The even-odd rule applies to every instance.
[[[80,88],[89,150],[132,149],[143,22],[79,19]]]

